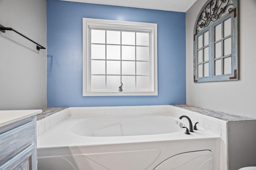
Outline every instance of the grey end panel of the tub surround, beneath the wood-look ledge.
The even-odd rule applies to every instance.
[[[228,122],[228,170],[256,166],[256,120]]]

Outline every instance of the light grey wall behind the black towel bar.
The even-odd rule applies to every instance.
[[[0,0],[0,24],[46,47],[46,0]],[[0,31],[0,110],[46,107],[46,50]]]

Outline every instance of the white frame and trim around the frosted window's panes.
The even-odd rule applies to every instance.
[[[127,31],[149,31],[150,41],[150,90],[117,91],[90,91],[90,28],[113,29]],[[83,18],[83,96],[157,96],[158,95],[158,72],[157,72],[157,24],[100,20]]]

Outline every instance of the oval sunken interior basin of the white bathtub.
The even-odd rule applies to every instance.
[[[181,130],[180,121],[159,115],[85,118],[71,127],[72,133],[89,137],[155,135]]]

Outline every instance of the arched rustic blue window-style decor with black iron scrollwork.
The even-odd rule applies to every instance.
[[[194,27],[194,82],[238,80],[238,2],[208,0]]]

